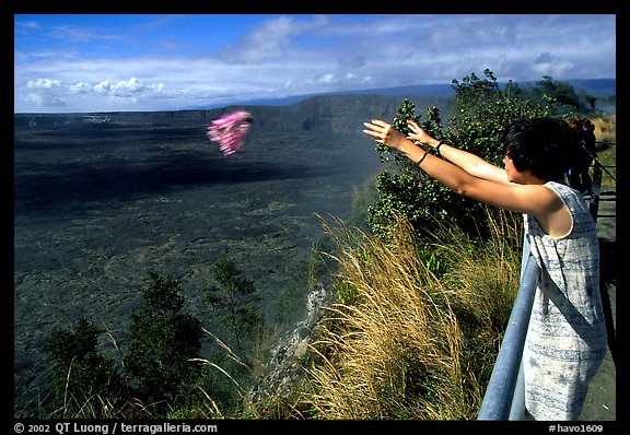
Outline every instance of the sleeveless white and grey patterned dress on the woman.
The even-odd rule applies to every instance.
[[[550,237],[524,215],[532,255],[540,267],[523,354],[525,407],[536,420],[579,420],[588,381],[607,351],[599,294],[599,244],[586,202],[549,181],[569,209],[572,227]]]

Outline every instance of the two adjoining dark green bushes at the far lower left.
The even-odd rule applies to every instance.
[[[144,305],[132,314],[122,373],[97,351],[97,328],[80,319],[55,331],[45,351],[55,362],[50,416],[160,416],[199,399],[201,325],[182,313],[179,283],[149,272]]]

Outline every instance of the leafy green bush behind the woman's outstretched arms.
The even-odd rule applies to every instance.
[[[491,71],[483,73],[483,80],[471,73],[462,82],[453,81],[457,110],[446,129],[438,107],[429,108],[428,119],[420,121],[421,115],[416,115],[416,106],[407,98],[398,107],[393,126],[406,134],[407,120],[416,120],[434,138],[502,165],[502,139],[508,126],[518,118],[548,116],[549,110],[526,99],[527,93],[516,84],[510,83],[501,90]],[[419,232],[430,228],[438,220],[457,225],[467,233],[488,234],[483,204],[455,193],[401,153],[383,144],[376,145],[376,150],[383,163],[394,164],[394,171],[385,171],[376,177],[380,198],[368,210],[368,220],[375,235],[385,238],[392,235],[395,213],[408,220]]]

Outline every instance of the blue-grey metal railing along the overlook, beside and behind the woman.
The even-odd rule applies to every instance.
[[[615,179],[606,171],[606,167],[614,166],[603,166],[597,160],[594,161],[590,211],[595,222],[597,222],[598,217],[603,172],[606,172]],[[602,217],[610,216],[605,215]],[[540,268],[532,256],[529,243],[524,237],[518,292],[477,420],[525,419],[525,385],[522,357],[539,272]]]

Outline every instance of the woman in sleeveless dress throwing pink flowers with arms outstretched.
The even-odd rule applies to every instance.
[[[580,192],[563,184],[574,138],[568,125],[550,118],[512,124],[504,168],[408,125],[407,138],[383,120],[364,122],[363,132],[457,193],[524,214],[540,267],[523,353],[525,407],[536,420],[578,420],[607,336],[595,223]]]

